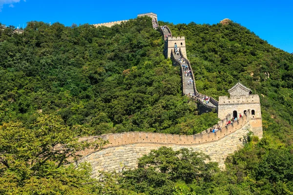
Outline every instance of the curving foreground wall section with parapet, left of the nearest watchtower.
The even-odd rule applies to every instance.
[[[250,130],[250,115],[244,115],[237,122],[225,126],[221,120],[215,126],[221,126],[222,130],[216,133],[203,131],[191,136],[180,136],[171,134],[159,134],[148,132],[126,132],[117,134],[106,134],[102,136],[80,137],[79,141],[93,142],[99,137],[109,141],[109,144],[101,151],[93,149],[84,150],[79,153],[83,156],[80,162],[89,162],[93,168],[93,176],[98,171],[119,171],[127,166],[132,169],[137,166],[137,158],[148,154],[150,150],[161,146],[172,147],[174,150],[180,148],[192,148],[202,151],[211,157],[212,161],[218,162],[224,168],[224,160],[242,146],[242,138]]]

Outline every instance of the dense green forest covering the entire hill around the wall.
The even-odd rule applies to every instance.
[[[182,97],[180,69],[141,17],[111,28],[27,23],[0,30],[0,194],[292,195],[293,55],[240,24],[167,22],[185,36],[197,90],[214,98],[237,81],[258,94],[264,137],[248,135],[226,170],[188,149],[160,148],[135,170],[90,177],[90,166],[65,166],[89,147],[75,137],[147,131],[191,135],[218,121]],[[67,144],[60,154],[50,149]],[[97,143],[101,147],[104,143]]]

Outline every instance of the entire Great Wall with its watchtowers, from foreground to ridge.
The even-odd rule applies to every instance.
[[[78,166],[81,162],[89,162],[92,165],[92,176],[99,175],[99,171],[121,171],[125,168],[137,167],[137,159],[148,154],[153,149],[161,146],[171,147],[174,150],[181,148],[191,148],[194,151],[201,151],[208,154],[211,161],[219,163],[219,167],[224,169],[226,157],[245,143],[245,137],[249,131],[255,136],[262,137],[262,118],[260,100],[258,95],[251,95],[251,90],[238,82],[229,90],[230,97],[219,97],[219,101],[210,98],[209,103],[202,101],[206,97],[196,90],[195,78],[190,61],[187,59],[185,37],[173,38],[170,29],[158,25],[157,15],[154,13],[140,14],[138,17],[149,16],[152,18],[153,27],[159,30],[165,40],[164,55],[170,58],[173,64],[180,66],[182,78],[183,95],[203,106],[207,111],[218,112],[221,120],[214,127],[221,127],[215,133],[209,133],[209,129],[200,134],[182,136],[148,132],[126,132],[116,134],[106,134],[102,136],[79,137],[79,141],[93,142],[98,138],[109,141],[102,150],[84,150],[79,153],[82,157],[76,161]],[[122,22],[124,22],[123,20]],[[110,26],[120,24],[120,21],[95,26]],[[175,48],[175,44],[177,48]],[[177,52],[174,51],[177,49]],[[183,60],[184,59],[184,60]],[[183,63],[184,61],[184,63]],[[187,65],[191,70],[191,79],[194,81],[188,84],[189,77],[185,77],[182,65]],[[236,122],[226,125],[226,121],[231,117],[239,116]]]

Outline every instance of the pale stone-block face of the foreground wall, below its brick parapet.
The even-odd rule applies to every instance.
[[[218,139],[217,141],[206,142],[203,144],[193,143],[182,144],[184,143],[182,139],[180,143],[169,143],[169,142],[149,142],[145,143],[133,143],[126,145],[118,145],[115,147],[105,148],[104,150],[92,152],[85,156],[81,161],[89,162],[92,165],[93,171],[92,176],[98,176],[99,171],[121,171],[122,168],[133,169],[137,167],[137,159],[143,155],[148,154],[151,150],[158,149],[159,147],[166,146],[171,147],[173,150],[179,150],[181,148],[191,148],[194,151],[200,151],[210,156],[211,161],[218,162],[219,167],[224,169],[224,161],[226,157],[234,151],[238,150],[243,146],[247,133],[250,130],[249,122],[244,124],[242,128],[231,133],[230,135]],[[226,132],[227,133],[227,132]],[[162,135],[163,136],[163,135]],[[210,135],[211,136],[211,135]],[[118,136],[120,137],[120,136]],[[118,138],[117,137],[117,138]],[[179,137],[179,136],[175,136]],[[212,135],[216,138],[217,133]],[[129,137],[130,138],[130,137]],[[134,137],[131,137],[134,138]],[[130,138],[130,139],[131,139]],[[154,137],[153,137],[154,138]],[[148,139],[152,139],[149,137]],[[180,140],[180,139],[178,139]],[[124,140],[120,140],[124,141]]]

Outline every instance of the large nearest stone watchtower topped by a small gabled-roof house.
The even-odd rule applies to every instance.
[[[255,136],[262,137],[262,118],[258,95],[251,95],[251,90],[238,82],[230,90],[230,98],[219,97],[218,117],[225,118],[227,115],[239,118],[246,112],[250,112],[251,131]]]

